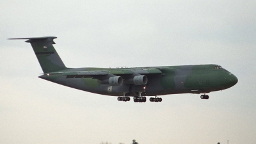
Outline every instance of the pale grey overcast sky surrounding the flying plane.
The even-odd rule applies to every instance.
[[[0,1],[0,143],[256,143],[256,1]],[[222,92],[118,102],[37,78],[30,44],[67,67],[219,64]]]

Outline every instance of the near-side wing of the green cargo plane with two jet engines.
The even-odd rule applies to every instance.
[[[108,69],[108,70],[88,70],[73,72],[50,72],[45,75],[50,76],[61,74],[66,78],[93,78],[99,79],[101,84],[121,85],[126,84],[147,84],[147,76],[152,74],[162,74],[159,68],[125,68],[125,69]]]

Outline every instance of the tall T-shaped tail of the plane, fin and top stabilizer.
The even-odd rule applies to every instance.
[[[63,61],[61,60],[59,54],[56,52],[52,44],[53,39],[57,38],[54,36],[36,37],[36,38],[9,38],[9,40],[20,40],[28,39],[33,47],[36,54],[36,58],[39,61],[41,68],[44,73],[55,72],[58,70],[66,69]]]

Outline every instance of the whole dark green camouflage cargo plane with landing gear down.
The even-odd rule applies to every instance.
[[[120,101],[161,102],[158,95],[206,93],[225,90],[237,83],[237,77],[220,65],[184,65],[164,67],[67,68],[52,46],[54,36],[28,39],[44,74],[42,79],[86,92],[117,96]]]

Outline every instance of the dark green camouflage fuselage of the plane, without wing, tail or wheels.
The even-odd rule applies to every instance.
[[[84,90],[86,92],[113,96],[136,96],[139,92],[144,96],[168,95],[176,93],[209,93],[225,90],[237,83],[237,78],[232,73],[218,65],[184,65],[168,67],[138,67],[138,68],[68,68],[61,72],[77,71],[125,71],[125,70],[148,70],[156,68],[161,74],[146,74],[147,84],[125,84],[111,86],[100,84],[99,79],[93,77],[67,78],[62,74],[42,75],[40,78],[54,83]],[[118,76],[118,74],[117,74]],[[125,81],[125,79],[124,79]]]

